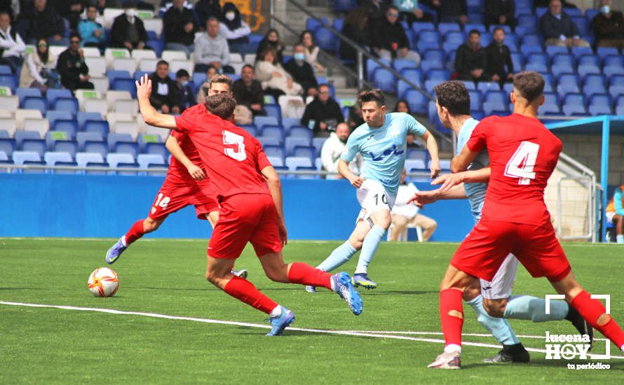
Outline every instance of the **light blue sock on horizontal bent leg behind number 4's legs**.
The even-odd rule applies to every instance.
[[[530,319],[533,322],[559,321],[568,315],[565,301],[550,301],[550,314],[546,314],[546,301],[531,295],[512,295],[507,302],[505,318]]]

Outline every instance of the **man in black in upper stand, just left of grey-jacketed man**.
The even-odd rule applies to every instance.
[[[165,48],[186,53],[194,51],[196,19],[192,9],[184,7],[184,0],[173,0],[171,8],[163,15]]]

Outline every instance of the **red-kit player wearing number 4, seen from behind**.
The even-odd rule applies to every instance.
[[[491,174],[481,220],[453,255],[440,284],[445,351],[428,367],[461,367],[462,293],[477,277],[491,281],[509,253],[531,276],[548,278],[593,328],[624,350],[622,329],[574,279],[544,203],[544,189],[562,148],[536,118],[544,102],[544,79],[537,72],[521,72],[514,76],[513,87],[513,115],[481,120],[451,163],[452,172],[463,172],[487,148]],[[461,178],[450,176],[442,188],[459,182]]]

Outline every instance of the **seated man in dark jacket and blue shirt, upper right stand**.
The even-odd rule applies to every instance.
[[[548,12],[539,20],[539,31],[544,37],[545,45],[590,46],[590,43],[578,36],[578,27],[570,16],[562,11],[559,0],[550,0],[548,3]]]

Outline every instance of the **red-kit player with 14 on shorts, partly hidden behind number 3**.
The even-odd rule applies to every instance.
[[[228,76],[214,76],[210,80],[208,95],[231,95],[231,87],[232,80]],[[134,241],[158,230],[169,214],[186,206],[194,205],[197,218],[208,219],[213,228],[219,220],[219,204],[210,186],[210,179],[205,178],[201,158],[191,139],[182,132],[174,131],[165,146],[173,155],[165,182],[158,190],[147,218],[136,221],[126,235],[109,248],[106,254],[109,264],[116,262]],[[239,270],[236,275],[246,277],[247,270]]]

